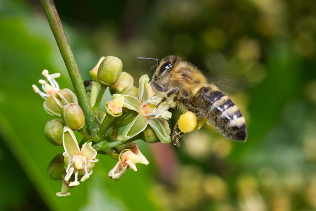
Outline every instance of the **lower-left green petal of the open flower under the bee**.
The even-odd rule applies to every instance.
[[[128,124],[123,131],[123,140],[130,139],[131,137],[139,134],[147,127],[147,125],[147,119],[141,114],[137,115],[136,118],[130,124]]]

